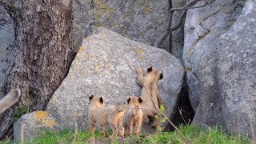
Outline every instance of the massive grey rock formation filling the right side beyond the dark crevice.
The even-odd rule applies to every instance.
[[[217,9],[219,5],[220,9],[202,22],[198,14],[211,10],[200,9],[186,19],[183,60],[196,113],[193,122],[206,126],[218,123],[227,130],[255,138],[256,2],[247,0],[232,26],[228,25],[229,18],[236,16],[223,13],[227,9],[222,3],[215,2],[212,7]]]

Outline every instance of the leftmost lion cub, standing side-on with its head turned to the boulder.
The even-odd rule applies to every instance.
[[[105,134],[105,127],[107,123],[110,125],[113,130],[113,134],[110,136],[111,138],[115,138],[118,136],[124,137],[124,127],[123,117],[126,112],[125,106],[105,106],[105,102],[102,97],[98,97],[95,95],[91,95],[90,106],[89,106],[89,114],[88,118],[90,120],[90,133],[94,133],[97,123],[102,127],[102,134]],[[93,123],[94,122],[94,123]]]

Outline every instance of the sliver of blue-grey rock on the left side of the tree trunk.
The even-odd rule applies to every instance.
[[[0,98],[6,93],[6,71],[13,58],[14,26],[10,15],[0,5]]]

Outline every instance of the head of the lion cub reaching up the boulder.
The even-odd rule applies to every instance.
[[[163,74],[160,70],[153,68],[150,66],[146,70],[146,78],[151,82],[158,82],[160,79],[163,78]]]

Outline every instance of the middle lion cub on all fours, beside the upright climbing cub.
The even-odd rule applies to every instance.
[[[128,136],[133,133],[138,135],[141,132],[142,128],[142,98],[131,96],[127,99],[127,110],[125,113],[125,129],[129,130]],[[135,128],[134,128],[135,127]],[[127,133],[126,133],[127,134]]]

